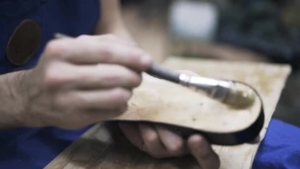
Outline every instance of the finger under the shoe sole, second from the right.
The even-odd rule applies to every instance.
[[[177,134],[169,131],[165,127],[155,127],[161,142],[166,147],[170,156],[179,157],[188,154],[184,140]]]

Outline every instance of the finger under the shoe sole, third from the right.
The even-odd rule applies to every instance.
[[[142,136],[144,145],[142,150],[149,153],[154,158],[165,158],[168,157],[168,153],[159,140],[158,133],[150,125],[139,125],[140,134]]]

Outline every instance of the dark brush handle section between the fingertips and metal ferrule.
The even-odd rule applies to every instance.
[[[176,84],[180,83],[180,79],[179,79],[180,74],[179,73],[167,70],[167,69],[165,69],[163,67],[160,67],[156,64],[152,64],[150,69],[148,69],[146,71],[146,73],[148,73],[151,76],[160,78],[160,79],[164,79],[164,80],[167,80],[167,81],[174,82]]]

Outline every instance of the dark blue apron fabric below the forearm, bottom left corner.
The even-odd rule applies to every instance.
[[[0,169],[42,169],[88,127],[17,128],[0,132]]]

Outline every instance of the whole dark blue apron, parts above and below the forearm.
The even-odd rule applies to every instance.
[[[45,44],[56,32],[70,36],[92,34],[100,18],[99,0],[0,0],[0,75],[34,67]],[[38,52],[24,66],[6,57],[7,42],[23,20],[40,25]],[[87,128],[17,128],[0,131],[0,169],[40,169],[54,159]]]

